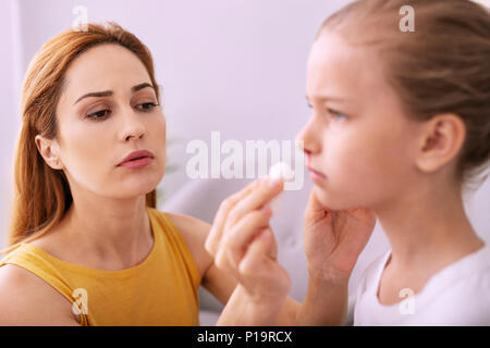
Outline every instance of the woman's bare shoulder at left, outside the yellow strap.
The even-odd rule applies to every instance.
[[[0,266],[0,325],[78,325],[69,300],[21,266]]]

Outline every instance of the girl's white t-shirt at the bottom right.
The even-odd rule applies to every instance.
[[[391,250],[363,274],[354,325],[490,325],[490,247],[467,254],[432,275],[422,290],[401,291],[401,302],[379,302],[378,288]]]

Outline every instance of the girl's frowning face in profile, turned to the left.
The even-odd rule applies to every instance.
[[[340,35],[323,33],[307,64],[313,115],[298,136],[317,197],[341,210],[389,203],[409,190],[417,123],[403,114],[381,59]]]

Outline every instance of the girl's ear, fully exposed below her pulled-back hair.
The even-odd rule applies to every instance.
[[[432,173],[458,157],[466,126],[455,114],[440,114],[427,121],[420,132],[416,165],[422,172]]]

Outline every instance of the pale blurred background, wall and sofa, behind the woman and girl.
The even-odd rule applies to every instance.
[[[20,91],[33,54],[72,27],[86,9],[88,22],[117,22],[152,52],[168,122],[169,172],[159,186],[159,209],[208,222],[219,202],[244,179],[189,179],[186,145],[210,146],[213,130],[238,141],[292,140],[309,117],[305,102],[306,60],[321,22],[347,0],[2,0],[0,1],[0,246],[5,243],[12,196],[13,154],[20,129]],[[480,1],[486,2],[489,1]],[[311,187],[287,192],[274,231],[280,261],[292,273],[292,296],[306,291],[302,214]],[[479,235],[490,241],[490,182],[466,201]],[[366,265],[388,249],[377,225],[359,258],[351,289]],[[351,291],[352,293],[352,291]],[[213,324],[219,304],[201,295],[203,324]],[[209,314],[209,315],[208,315]]]

